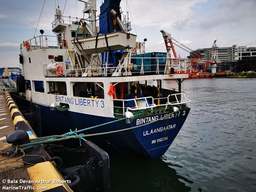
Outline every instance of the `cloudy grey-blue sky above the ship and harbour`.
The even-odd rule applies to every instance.
[[[97,0],[97,15],[102,2]],[[34,34],[40,35],[40,29],[44,35],[54,35],[52,21],[58,4],[63,16],[83,17],[83,2],[65,3],[66,0],[46,0],[45,4],[44,0],[0,0],[0,67],[19,67],[20,43]],[[124,13],[129,11],[130,32],[137,35],[137,41],[147,38],[147,52],[165,52],[160,30],[192,50],[209,48],[216,39],[219,47],[256,46],[256,0],[122,0],[120,5]],[[174,48],[181,57],[189,55]]]

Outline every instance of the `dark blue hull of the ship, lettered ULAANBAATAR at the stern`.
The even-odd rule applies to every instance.
[[[43,105],[38,106],[40,107],[42,136],[60,135],[69,132],[70,129],[72,131],[76,128],[80,130],[116,120],[116,118],[94,116],[71,111],[52,111],[49,107]],[[184,124],[189,111],[190,108],[180,110],[178,116],[171,113],[142,116],[135,118],[130,124],[126,124],[124,120],[87,130],[83,133],[92,134],[116,131],[134,127],[139,124],[145,124],[165,116],[162,120],[132,130],[87,138],[103,149],[104,146],[111,145],[120,150],[132,151],[133,153],[143,154],[151,158],[158,158],[162,156],[172,144]]]

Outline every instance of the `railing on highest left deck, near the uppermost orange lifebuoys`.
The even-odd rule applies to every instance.
[[[52,49],[66,49],[67,43],[64,36],[45,36],[40,35],[27,40],[30,44],[30,49],[52,48]],[[26,41],[26,42],[27,42]],[[26,43],[25,42],[25,43]]]

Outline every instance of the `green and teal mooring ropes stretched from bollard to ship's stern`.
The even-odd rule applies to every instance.
[[[174,113],[174,112],[172,112],[172,113]],[[138,116],[138,115],[141,115],[141,113],[137,114],[137,115],[134,115],[134,116]],[[106,124],[114,123],[114,122],[121,121],[121,120],[124,120],[124,119],[128,118],[128,117],[124,117],[122,119],[117,119],[115,121],[111,121],[111,122],[108,122],[108,123],[104,123],[104,124],[88,127],[88,128],[81,129],[81,130],[71,131],[71,132],[65,133],[63,135],[52,135],[52,136],[46,136],[46,137],[40,137],[40,138],[31,139],[30,143],[19,145],[18,148],[21,148],[21,149],[25,150],[25,149],[31,148],[31,147],[33,147],[35,145],[51,143],[51,142],[55,142],[55,141],[63,141],[63,140],[68,140],[68,139],[79,139],[80,143],[81,143],[81,140],[85,140],[84,137],[91,137],[91,136],[105,135],[105,134],[110,134],[110,133],[117,133],[117,132],[127,131],[127,130],[135,129],[135,128],[138,128],[138,127],[141,127],[141,126],[145,126],[145,125],[148,125],[148,124],[151,124],[151,123],[155,123],[156,121],[159,121],[159,120],[161,120],[161,119],[163,119],[165,117],[166,116],[163,116],[163,117],[161,117],[161,118],[159,118],[159,119],[157,119],[155,121],[148,122],[146,124],[141,124],[141,125],[137,125],[135,127],[130,127],[130,128],[126,128],[126,129],[120,129],[120,130],[116,130],[116,131],[93,133],[93,134],[89,134],[89,135],[84,135],[84,134],[77,135],[76,134],[77,132],[83,132],[83,131],[86,131],[86,130],[89,130],[89,129],[93,129],[93,128],[96,128],[96,127],[100,127],[100,126],[103,126],[103,125],[106,125]],[[72,134],[76,134],[76,135],[72,135]],[[13,145],[12,147],[17,147],[17,146]]]

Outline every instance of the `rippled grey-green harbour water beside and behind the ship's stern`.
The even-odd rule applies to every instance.
[[[154,160],[110,153],[110,191],[256,190],[256,79],[187,79],[184,91],[191,110],[171,147]]]

